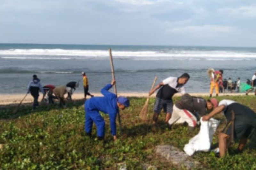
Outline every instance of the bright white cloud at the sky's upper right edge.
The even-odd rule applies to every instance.
[[[226,13],[227,15],[235,15],[237,17],[256,17],[256,6],[240,6],[237,8],[222,8],[220,12]]]

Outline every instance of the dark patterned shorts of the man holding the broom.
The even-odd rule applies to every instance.
[[[163,100],[156,97],[154,112],[160,114],[162,108],[164,109],[165,113],[172,113],[172,100]]]

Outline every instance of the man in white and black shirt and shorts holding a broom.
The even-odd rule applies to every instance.
[[[169,121],[172,115],[172,107],[173,107],[172,96],[177,92],[181,92],[183,94],[186,93],[184,85],[188,82],[189,78],[190,76],[188,73],[184,73],[178,78],[176,77],[166,78],[161,83],[156,85],[156,87],[149,92],[149,96],[150,96],[157,89],[161,87],[156,94],[153,124],[156,124],[158,115],[160,114],[162,108],[166,113],[165,122],[167,123]]]

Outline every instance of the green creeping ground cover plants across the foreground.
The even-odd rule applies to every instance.
[[[225,96],[218,99],[236,100],[256,111],[255,96]],[[174,98],[174,102],[179,98]],[[108,115],[105,143],[96,138],[93,127],[92,138],[84,133],[83,101],[68,103],[67,108],[44,105],[32,111],[23,106],[13,115],[13,107],[0,110],[0,168],[1,169],[117,169],[125,163],[127,169],[143,169],[154,165],[158,169],[176,169],[171,163],[155,154],[155,146],[172,144],[180,149],[195,136],[199,128],[191,133],[182,125],[174,125],[170,130],[159,117],[157,126],[139,119],[145,98],[130,98],[131,107],[121,111],[123,134],[113,142],[110,135]],[[155,99],[150,99],[149,116],[153,115]],[[222,115],[218,131],[225,124]],[[118,124],[117,124],[118,125]],[[117,126],[118,128],[118,126]],[[117,129],[118,131],[118,129]],[[217,134],[213,145],[217,145]],[[253,142],[254,141],[254,142]],[[193,159],[208,169],[256,169],[255,136],[242,153],[236,153],[233,144],[225,158],[215,158],[212,152],[198,152]]]

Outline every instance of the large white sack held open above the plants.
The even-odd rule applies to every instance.
[[[209,121],[203,121],[200,119],[201,126],[199,133],[189,140],[188,144],[186,144],[183,150],[189,156],[192,156],[196,151],[204,151],[209,152],[212,137],[220,124],[220,121],[211,118]]]

